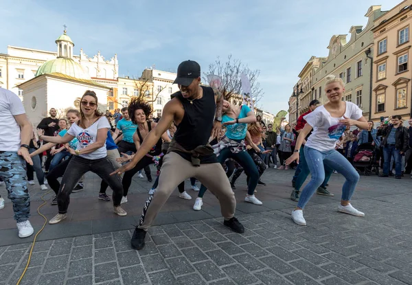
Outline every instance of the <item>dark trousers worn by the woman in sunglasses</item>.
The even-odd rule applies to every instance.
[[[64,161],[65,162],[65,161]],[[64,163],[63,162],[63,163]],[[61,165],[60,163],[59,165]],[[57,168],[57,167],[56,167]],[[70,193],[76,186],[83,174],[91,171],[98,174],[101,179],[113,189],[113,206],[117,207],[122,201],[123,187],[119,175],[110,175],[115,171],[113,164],[104,157],[102,159],[85,159],[83,157],[72,157],[69,165],[69,171],[63,175],[60,190],[57,194],[58,212],[60,214],[67,213],[67,208],[70,203]]]

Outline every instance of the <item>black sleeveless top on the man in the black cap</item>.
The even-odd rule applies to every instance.
[[[173,94],[185,109],[182,122],[179,126],[176,126],[174,140],[185,150],[194,150],[198,146],[205,146],[209,141],[211,129],[213,128],[216,113],[214,91],[211,87],[202,86],[201,88],[203,89],[203,97],[193,101],[183,98],[181,91]],[[190,154],[177,153],[187,161],[192,161]],[[201,163],[218,162],[216,155],[202,156],[199,159],[201,159]]]

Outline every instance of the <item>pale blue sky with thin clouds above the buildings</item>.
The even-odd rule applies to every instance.
[[[144,68],[176,71],[192,59],[203,71],[229,54],[260,70],[264,98],[276,114],[288,109],[297,76],[310,56],[328,56],[333,34],[367,23],[371,5],[390,10],[400,0],[1,0],[0,53],[7,46],[56,51],[67,34],[88,56],[117,54],[120,76]],[[349,41],[349,38],[348,38]]]

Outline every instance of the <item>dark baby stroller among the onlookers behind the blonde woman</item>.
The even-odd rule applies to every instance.
[[[369,176],[375,172],[379,174],[379,166],[376,162],[376,150],[375,146],[371,143],[361,144],[356,150],[356,154],[353,161],[353,166],[359,174]]]

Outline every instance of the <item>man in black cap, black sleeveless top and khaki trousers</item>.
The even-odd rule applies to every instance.
[[[244,232],[244,227],[234,217],[236,199],[229,180],[207,146],[209,137],[216,137],[222,128],[222,93],[200,86],[201,67],[192,60],[179,65],[174,83],[179,84],[180,91],[165,105],[157,126],[146,136],[132,161],[113,172],[122,174],[134,168],[174,122],[177,130],[163,158],[157,191],[146,201],[139,226],[133,233],[133,249],[144,247],[146,231],[157,213],[176,186],[189,177],[196,177],[218,197],[224,225],[237,233]]]

